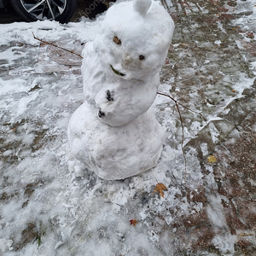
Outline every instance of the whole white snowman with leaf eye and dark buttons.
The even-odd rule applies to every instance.
[[[152,104],[173,29],[166,9],[152,0],[108,9],[84,47],[84,103],[67,128],[79,170],[117,180],[157,165],[165,131]]]

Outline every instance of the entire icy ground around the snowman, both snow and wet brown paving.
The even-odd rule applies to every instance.
[[[0,255],[255,255],[256,7],[164,5],[176,30],[160,91],[207,119],[180,107],[186,181],[180,119],[164,96],[157,167],[118,182],[75,177],[67,123],[83,102],[81,60],[32,32],[80,54],[102,16],[0,26]]]

